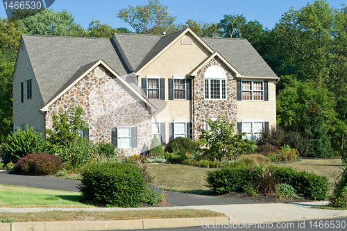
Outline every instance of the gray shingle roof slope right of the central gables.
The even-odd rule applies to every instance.
[[[201,40],[213,51],[218,51],[243,76],[277,77],[246,39],[201,37]]]

